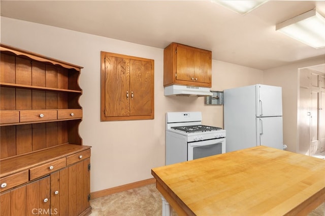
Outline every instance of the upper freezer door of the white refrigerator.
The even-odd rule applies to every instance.
[[[282,88],[256,85],[256,116],[282,116]]]

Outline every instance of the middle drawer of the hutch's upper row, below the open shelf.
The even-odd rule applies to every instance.
[[[57,119],[56,110],[32,110],[20,111],[20,122],[47,121]]]

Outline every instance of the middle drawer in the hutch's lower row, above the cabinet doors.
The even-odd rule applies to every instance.
[[[61,158],[29,169],[29,179],[34,180],[66,166],[66,158]]]

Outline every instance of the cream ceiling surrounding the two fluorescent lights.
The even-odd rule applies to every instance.
[[[324,56],[275,25],[325,1],[269,1],[239,15],[211,1],[1,1],[1,16],[164,49],[171,42],[212,51],[212,58],[269,69]],[[314,68],[325,72],[325,65]]]

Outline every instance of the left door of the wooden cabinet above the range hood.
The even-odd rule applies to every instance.
[[[182,46],[177,47],[177,80],[194,80],[194,50]]]

